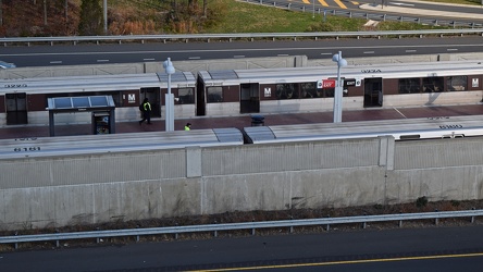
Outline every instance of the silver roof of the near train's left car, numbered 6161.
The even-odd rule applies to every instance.
[[[1,139],[0,160],[243,144],[238,128]]]

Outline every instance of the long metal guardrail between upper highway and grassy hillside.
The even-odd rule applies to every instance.
[[[123,36],[61,36],[61,37],[12,37],[0,38],[3,46],[8,44],[32,44],[32,42],[99,42],[99,41],[140,41],[146,40],[207,40],[211,39],[275,39],[275,38],[339,38],[339,37],[383,37],[383,36],[444,36],[444,35],[480,35],[483,36],[483,28],[465,28],[465,29],[432,29],[432,30],[386,30],[386,32],[317,32],[317,33],[246,33],[246,34],[181,34],[181,35],[123,35]]]

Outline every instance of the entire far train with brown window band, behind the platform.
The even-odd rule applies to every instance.
[[[340,69],[343,110],[468,104],[482,101],[482,61],[348,65]],[[175,97],[176,119],[331,111],[337,66],[89,75],[0,79],[0,125],[49,122],[53,98],[110,96],[117,122],[139,118],[148,98],[152,118],[163,119],[165,94]],[[169,84],[170,83],[170,84]],[[81,107],[54,112],[57,123],[89,122]]]

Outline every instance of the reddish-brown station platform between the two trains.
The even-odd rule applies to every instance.
[[[263,116],[265,126],[288,125],[288,124],[311,124],[311,123],[332,123],[332,112],[305,112],[305,113],[282,113],[263,114],[253,113],[237,116],[197,116],[191,119],[182,119],[174,121],[174,129],[183,131],[186,123],[191,123],[191,129],[236,127],[243,128],[251,126],[253,115]],[[458,104],[446,107],[418,107],[418,108],[392,108],[380,109],[371,108],[358,111],[344,111],[343,122],[370,121],[370,120],[398,120],[417,118],[444,118],[459,115],[483,115],[483,104]],[[144,123],[139,125],[138,121],[117,122],[115,133],[143,133],[143,132],[163,132],[165,123],[163,119],[151,119],[152,124]],[[483,120],[482,120],[483,124]],[[70,124],[55,125],[55,136],[70,135],[91,135],[91,124]],[[9,138],[29,138],[29,137],[49,137],[49,126],[14,125],[0,127],[0,139]]]

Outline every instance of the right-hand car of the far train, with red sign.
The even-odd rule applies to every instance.
[[[482,61],[349,65],[344,110],[482,100]],[[329,111],[337,66],[200,71],[197,115]]]

